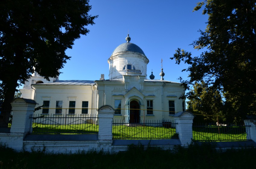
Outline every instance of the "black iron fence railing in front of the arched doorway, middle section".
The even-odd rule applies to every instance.
[[[113,121],[113,139],[164,139],[178,138],[176,123],[162,120],[141,120],[132,123],[128,120]]]

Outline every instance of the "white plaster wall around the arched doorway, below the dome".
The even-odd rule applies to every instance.
[[[98,85],[99,107],[101,105],[111,105],[114,107],[114,100],[121,99],[121,108],[128,108],[125,103],[130,98],[142,100],[140,108],[147,108],[147,100],[153,100],[153,115],[147,115],[147,111],[141,110],[141,120],[170,120],[173,116],[169,115],[169,100],[175,101],[175,111],[183,111],[182,99],[179,97],[184,93],[184,88],[180,83],[170,82],[144,82],[139,76],[123,76],[124,81],[96,81]],[[164,111],[161,111],[164,110]],[[125,110],[121,110],[121,115],[114,115],[114,120],[123,120],[128,115]]]

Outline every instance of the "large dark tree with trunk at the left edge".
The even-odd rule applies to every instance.
[[[16,87],[34,71],[57,77],[74,40],[86,35],[97,16],[88,14],[89,0],[0,1],[0,126],[7,126]],[[35,67],[35,69],[33,68]]]

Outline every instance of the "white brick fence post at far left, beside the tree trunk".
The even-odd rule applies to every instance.
[[[23,149],[23,138],[30,131],[30,115],[34,113],[36,102],[31,99],[17,98],[11,102],[12,124],[8,147],[15,150]],[[31,130],[32,131],[32,130]]]

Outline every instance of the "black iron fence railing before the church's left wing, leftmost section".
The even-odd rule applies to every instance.
[[[93,134],[98,133],[98,117],[93,114],[33,114],[31,134]]]

